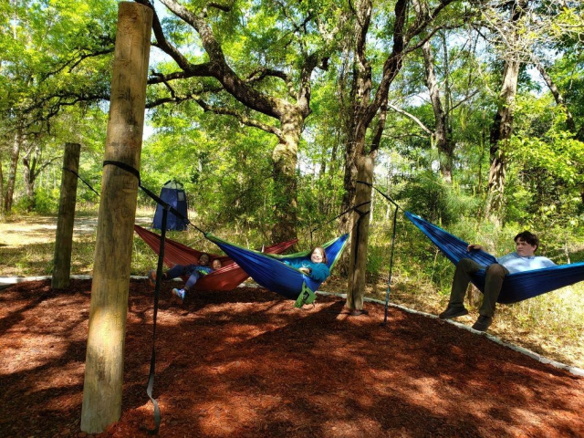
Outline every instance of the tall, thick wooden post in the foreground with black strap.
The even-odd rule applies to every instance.
[[[105,160],[140,169],[152,11],[120,2]],[[138,178],[103,168],[81,430],[101,433],[121,415],[124,340]]]

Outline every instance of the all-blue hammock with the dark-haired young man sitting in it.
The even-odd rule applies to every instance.
[[[405,212],[408,219],[416,225],[433,244],[438,246],[448,259],[458,264],[461,258],[471,258],[482,266],[496,263],[493,255],[485,251],[467,252],[468,244],[451,235],[442,228],[424,221],[420,216]],[[571,265],[550,266],[531,271],[516,272],[505,277],[503,288],[497,301],[503,304],[516,303],[527,298],[537,297],[560,287],[566,287],[584,280],[584,262]],[[485,269],[474,274],[472,282],[481,292],[485,290]]]

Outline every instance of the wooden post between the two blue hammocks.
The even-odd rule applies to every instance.
[[[365,183],[373,181],[373,158],[361,157],[357,180]],[[371,186],[357,183],[355,205],[371,201]],[[353,224],[357,224],[350,238],[349,284],[347,287],[347,307],[357,311],[363,309],[365,297],[365,274],[367,270],[367,240],[369,237],[370,204],[365,204],[353,214]]]

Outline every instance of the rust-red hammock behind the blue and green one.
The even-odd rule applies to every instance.
[[[134,225],[134,231],[140,235],[141,239],[146,242],[152,250],[159,254],[161,236],[152,233],[140,225]],[[298,239],[282,242],[272,246],[266,246],[264,252],[267,254],[281,254],[290,246],[297,243]],[[190,248],[189,246],[179,244],[171,239],[164,241],[164,264],[172,267],[175,265],[192,265],[199,262],[202,251]],[[209,254],[209,253],[205,253]],[[213,261],[219,260],[223,267],[217,269],[206,276],[202,276],[194,285],[195,289],[201,290],[232,290],[243,283],[249,276],[227,255],[209,254],[211,258],[209,265]]]

